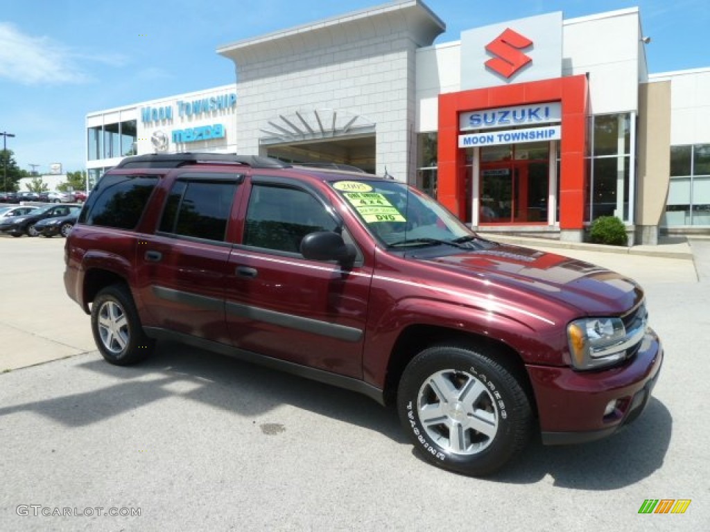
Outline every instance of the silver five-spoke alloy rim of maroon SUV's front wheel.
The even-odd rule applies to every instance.
[[[486,385],[467,372],[431,375],[417,395],[417,411],[427,436],[457,455],[481,453],[498,431],[496,401]]]

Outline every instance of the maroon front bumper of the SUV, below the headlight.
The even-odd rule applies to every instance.
[[[609,370],[528,366],[542,443],[562,445],[606,438],[641,414],[660,374],[663,348],[648,329],[633,358]],[[610,401],[616,409],[604,415]]]

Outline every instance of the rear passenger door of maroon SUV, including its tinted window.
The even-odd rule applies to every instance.
[[[234,172],[185,172],[171,185],[157,231],[146,235],[136,256],[148,326],[230,343],[224,320],[227,231],[242,181]]]

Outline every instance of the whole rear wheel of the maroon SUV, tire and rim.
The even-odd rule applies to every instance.
[[[136,305],[125,284],[112,284],[94,298],[91,328],[99,352],[111,364],[125,366],[145,360],[155,340],[143,332]]]

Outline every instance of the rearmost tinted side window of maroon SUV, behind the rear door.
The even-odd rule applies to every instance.
[[[80,223],[135,228],[157,183],[154,176],[104,175],[89,196]]]

